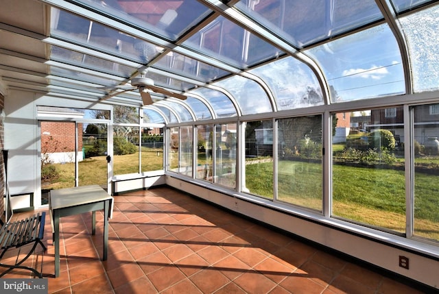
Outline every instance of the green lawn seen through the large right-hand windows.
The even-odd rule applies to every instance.
[[[251,193],[272,198],[270,171],[270,162],[246,166],[246,187]],[[279,162],[278,200],[321,211],[321,183],[321,164]],[[436,175],[416,173],[415,235],[439,240],[438,192]],[[335,217],[404,233],[404,171],[334,165],[332,212]]]

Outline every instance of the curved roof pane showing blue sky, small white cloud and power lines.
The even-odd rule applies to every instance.
[[[333,102],[405,93],[401,53],[387,24],[304,52],[320,63]]]

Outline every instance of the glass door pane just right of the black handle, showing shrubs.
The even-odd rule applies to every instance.
[[[139,173],[139,127],[113,127],[113,174]]]

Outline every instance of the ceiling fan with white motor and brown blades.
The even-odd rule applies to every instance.
[[[106,100],[106,99],[109,99],[111,97],[115,97],[117,95],[120,95],[121,93],[125,93],[125,92],[132,91],[135,89],[139,90],[139,93],[141,95],[142,102],[143,102],[144,106],[151,105],[152,103],[154,103],[154,101],[152,101],[150,91],[155,92],[155,93],[160,93],[160,94],[163,94],[166,96],[176,97],[176,98],[182,99],[182,100],[187,99],[187,97],[185,95],[181,95],[179,93],[175,93],[175,92],[172,92],[169,90],[165,90],[164,88],[154,86],[154,80],[150,79],[149,77],[145,77],[145,75],[146,75],[146,71],[142,71],[140,77],[133,77],[131,79],[130,83],[128,83],[124,86],[117,86],[116,87],[116,88],[119,88],[122,90],[120,90],[120,91],[116,90],[114,93],[110,93],[100,100]],[[128,86],[128,88],[127,88],[127,86]]]

